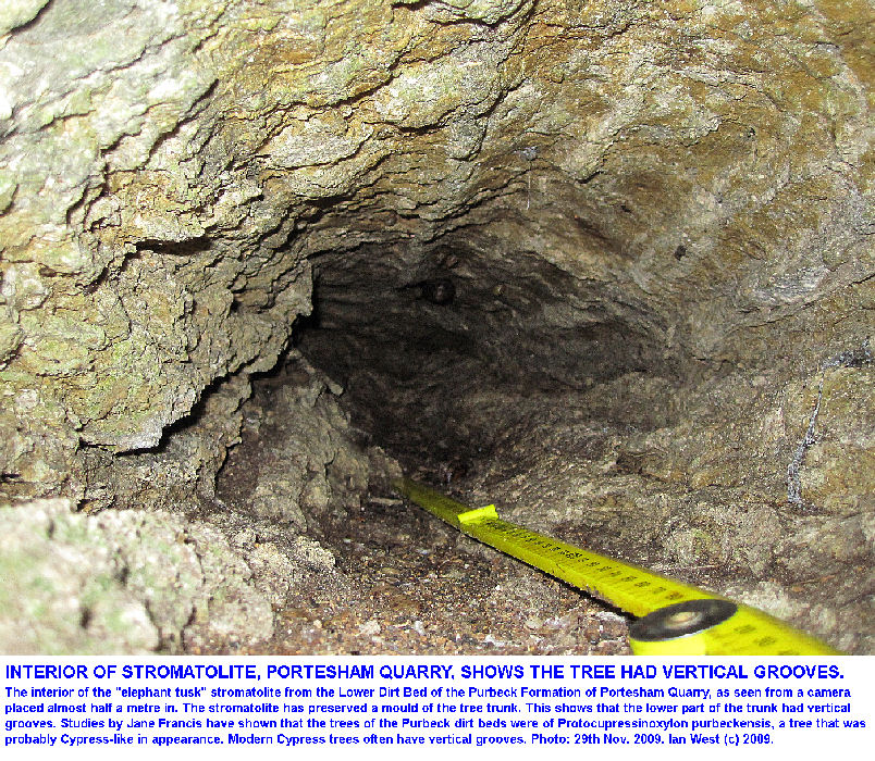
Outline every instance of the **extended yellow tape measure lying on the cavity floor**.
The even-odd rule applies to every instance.
[[[639,616],[637,656],[841,654],[755,608],[503,521],[494,504],[471,509],[410,478],[392,485],[464,534]]]

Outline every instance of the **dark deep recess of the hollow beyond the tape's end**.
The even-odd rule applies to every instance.
[[[467,474],[531,413],[628,372],[665,372],[652,317],[534,251],[477,236],[315,261],[303,353],[408,472]],[[567,404],[567,398],[563,402]],[[528,412],[527,412],[528,410]]]

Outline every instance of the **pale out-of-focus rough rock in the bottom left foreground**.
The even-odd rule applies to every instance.
[[[139,510],[76,515],[60,499],[0,517],[7,652],[174,651],[183,631],[188,645],[272,632],[251,570],[205,524]]]

